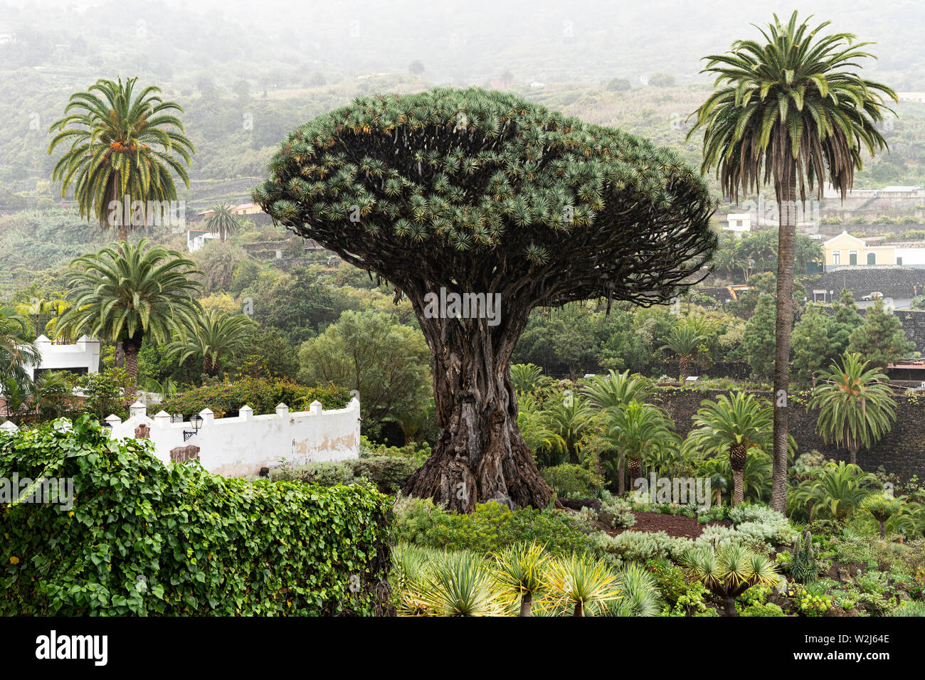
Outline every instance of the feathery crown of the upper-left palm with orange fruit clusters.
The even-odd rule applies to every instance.
[[[174,115],[182,107],[162,99],[153,85],[135,93],[137,80],[101,79],[87,92],[71,94],[65,116],[48,130],[56,133],[49,154],[70,143],[52,170],[61,195],[73,184],[80,215],[94,217],[104,229],[117,227],[119,241],[128,238],[129,227],[140,225],[127,223],[114,202],[141,201],[147,225],[149,202],[158,202],[160,215],[167,202],[177,200],[173,174],[190,186],[186,167],[195,152]]]

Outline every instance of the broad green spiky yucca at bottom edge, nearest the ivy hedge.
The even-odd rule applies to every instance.
[[[436,556],[418,592],[427,610],[437,616],[503,616],[506,613],[489,564],[468,550]]]

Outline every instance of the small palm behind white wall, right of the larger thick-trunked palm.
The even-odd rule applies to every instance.
[[[201,356],[205,375],[216,377],[222,359],[240,352],[251,340],[253,325],[247,315],[228,316],[215,309],[203,312],[196,315],[188,336],[166,346],[167,357],[179,356],[182,364],[191,356]]]

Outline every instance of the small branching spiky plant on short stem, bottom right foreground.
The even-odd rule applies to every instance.
[[[688,550],[684,563],[691,578],[722,600],[722,611],[727,616],[738,616],[735,598],[748,588],[773,586],[781,579],[771,560],[740,543]]]

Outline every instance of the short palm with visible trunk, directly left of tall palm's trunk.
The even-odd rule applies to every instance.
[[[729,450],[733,468],[733,505],[744,500],[743,473],[748,450],[766,448],[771,444],[771,406],[759,402],[752,394],[732,392],[721,394],[716,402],[706,400],[694,416],[697,426],[688,439],[693,446],[716,454]]]

